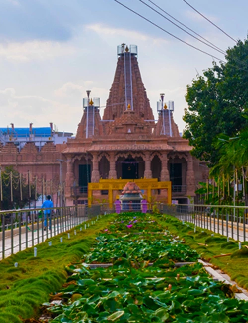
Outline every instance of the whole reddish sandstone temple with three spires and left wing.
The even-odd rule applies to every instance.
[[[174,122],[174,102],[166,102],[165,97],[160,94],[155,120],[141,78],[137,46],[122,44],[103,114],[100,99],[87,91],[75,137],[57,143],[51,128],[50,137],[39,142],[31,129],[25,144],[18,145],[12,126],[0,143],[1,167],[13,165],[37,178],[56,178],[64,183],[66,205],[111,204],[132,180],[147,199],[188,203],[198,182],[207,177],[206,168],[191,156],[188,141]]]

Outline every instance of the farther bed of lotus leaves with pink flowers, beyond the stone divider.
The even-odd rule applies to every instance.
[[[127,228],[131,226],[130,228]],[[153,217],[141,214],[140,216],[120,215],[109,229],[105,229],[97,237],[94,250],[85,257],[87,263],[108,263],[113,259],[125,257],[133,261],[156,261],[166,259],[172,261],[194,261],[198,254],[175,239],[168,231],[158,224]],[[122,236],[122,232],[129,234]],[[152,234],[149,234],[152,232]],[[156,235],[156,232],[161,232]],[[137,234],[132,234],[137,233]]]

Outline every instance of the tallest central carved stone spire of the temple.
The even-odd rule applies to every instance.
[[[117,55],[115,77],[104,110],[103,120],[120,118],[128,106],[144,120],[154,120],[138,66],[137,46],[119,45]]]

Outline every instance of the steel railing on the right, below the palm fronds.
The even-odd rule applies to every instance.
[[[248,206],[164,205],[163,213],[237,241],[248,241]]]

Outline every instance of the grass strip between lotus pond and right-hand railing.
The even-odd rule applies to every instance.
[[[186,244],[195,249],[202,258],[219,267],[227,273],[240,287],[248,289],[248,249],[242,247],[239,250],[238,242],[220,234],[196,227],[194,224],[183,224],[180,220],[164,215],[158,219],[158,222],[165,225],[166,228],[180,238],[183,238]],[[206,244],[206,245],[199,245]],[[242,245],[248,245],[248,242],[242,242]],[[232,253],[231,256],[214,258],[215,255]]]

